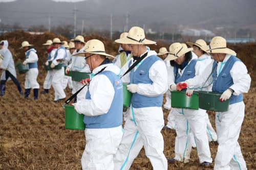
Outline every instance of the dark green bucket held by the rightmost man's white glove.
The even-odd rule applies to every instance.
[[[228,111],[229,101],[219,101],[221,94],[212,91],[199,91],[199,108],[204,110],[211,110],[217,112]]]

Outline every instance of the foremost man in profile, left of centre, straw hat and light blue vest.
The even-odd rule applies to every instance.
[[[112,170],[113,155],[123,135],[123,85],[118,77],[120,68],[109,60],[115,57],[106,54],[104,44],[96,39],[88,41],[84,51],[74,56],[86,59],[92,71],[86,98],[73,104],[78,113],[84,114],[83,122],[86,124],[82,169]],[[86,80],[83,82],[88,83]]]

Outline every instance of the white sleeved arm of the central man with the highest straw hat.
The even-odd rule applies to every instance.
[[[163,61],[156,61],[151,66],[149,77],[153,81],[153,84],[138,84],[138,94],[155,97],[164,94],[168,90],[167,70]]]

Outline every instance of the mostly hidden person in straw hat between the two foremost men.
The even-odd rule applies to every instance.
[[[120,35],[120,39],[126,37],[127,34],[128,33],[125,33],[125,32],[122,33]],[[117,58],[117,60],[115,62],[115,65],[118,66],[119,68],[122,68],[124,66],[124,64],[133,57],[133,54],[131,54],[130,47],[127,44],[121,43],[120,45],[123,49],[123,52],[120,53],[119,57]]]

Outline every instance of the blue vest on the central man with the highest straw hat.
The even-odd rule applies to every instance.
[[[157,56],[147,57],[140,66],[134,72],[134,68],[130,72],[130,83],[132,84],[153,84],[153,81],[150,79],[150,68],[158,60],[162,60]],[[131,65],[132,60],[129,63]],[[136,93],[133,93],[131,103],[134,108],[143,108],[143,107],[162,107],[163,103],[163,94],[150,97]]]

